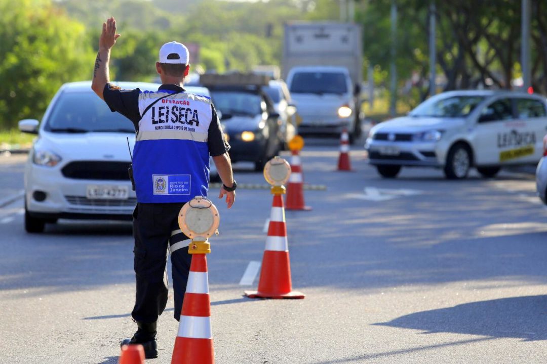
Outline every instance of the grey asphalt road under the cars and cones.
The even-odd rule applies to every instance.
[[[404,169],[384,180],[362,145],[354,171],[340,172],[337,141],[306,142],[305,181],[327,190],[305,191],[312,211],[286,212],[304,300],[242,297],[257,287],[239,283],[263,255],[269,191],[238,189],[229,211],[217,202],[207,256],[217,363],[545,362],[547,210],[533,176],[446,181]],[[22,186],[22,159],[6,160],[0,183],[13,185],[3,194]],[[236,178],[264,183],[246,166]],[[28,235],[22,208],[18,199],[0,209],[0,363],[117,363],[135,329],[131,225],[65,220]],[[171,360],[172,307],[149,363]]]

